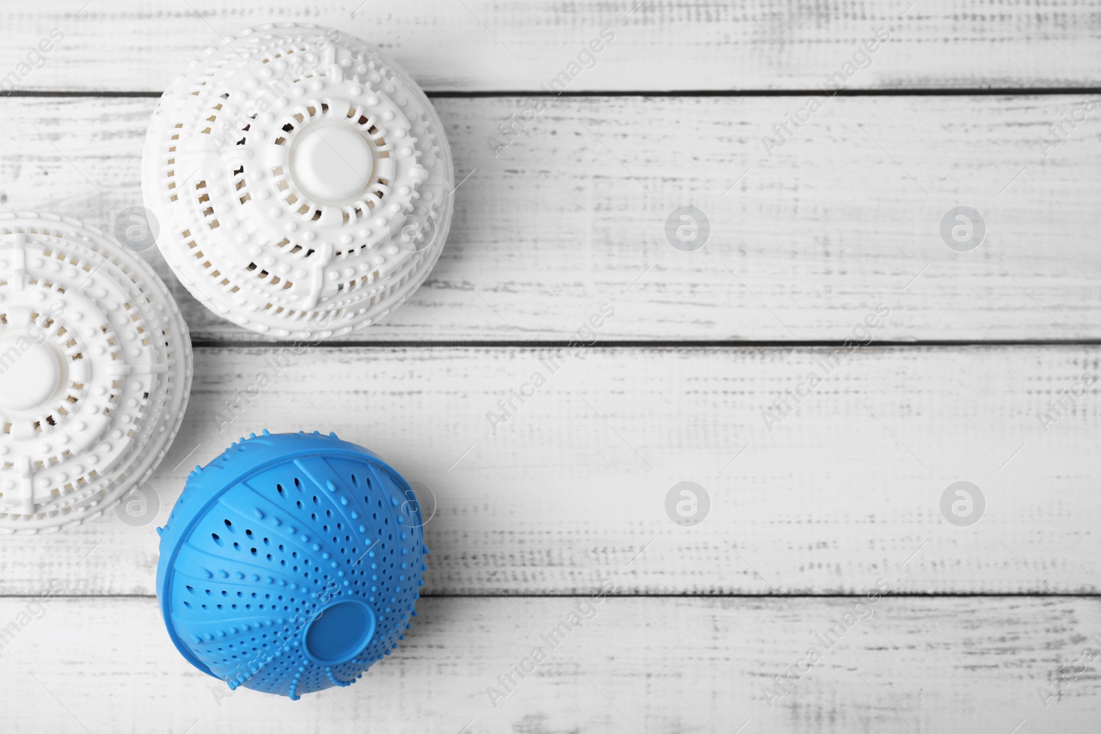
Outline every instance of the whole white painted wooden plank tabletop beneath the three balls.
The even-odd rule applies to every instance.
[[[286,344],[146,256],[196,346],[156,524],[239,435],[335,430],[436,499],[412,634],[351,688],[228,695],[164,632],[153,524],[2,537],[0,628],[30,620],[0,651],[4,732],[1097,730],[1099,664],[1071,670],[1101,649],[1101,396],[1037,418],[1101,370],[1101,111],[1040,143],[1101,96],[1095,4],[358,1],[6,0],[0,73],[64,39],[0,97],[0,209],[107,228],[140,204],[160,90],[243,26],[338,26],[408,68],[469,178],[388,325],[306,350],[219,432]],[[596,66],[494,157],[497,125],[604,28]],[[767,156],[762,136],[877,29],[871,65]],[[711,227],[695,252],[665,237],[687,205]],[[988,227],[970,252],[940,235],[960,205]],[[597,343],[491,426],[603,303]],[[879,304],[873,342],[766,430]],[[683,481],[710,497],[695,527],[666,516]],[[956,481],[985,496],[975,525],[941,515]],[[820,645],[877,584],[871,616]]]

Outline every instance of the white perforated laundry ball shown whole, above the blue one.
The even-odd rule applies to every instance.
[[[378,322],[435,265],[455,173],[439,118],[372,45],[263,25],[164,92],[142,161],[159,245],[192,294],[261,333]]]

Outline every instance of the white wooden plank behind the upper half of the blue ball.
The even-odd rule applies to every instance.
[[[337,431],[430,489],[426,593],[571,594],[612,572],[639,594],[860,593],[887,572],[900,592],[1101,592],[1099,388],[1037,418],[1101,349],[858,350],[826,375],[829,354],[593,348],[552,374],[541,349],[314,348],[276,374],[273,350],[199,349],[156,522],[0,537],[0,593],[50,577],[153,593],[153,528],[187,469],[262,428]],[[762,413],[811,371],[824,382],[768,432]],[[262,372],[271,386],[219,434]],[[546,384],[491,426],[534,372]],[[684,481],[710,497],[695,527],[665,510]],[[957,481],[985,497],[971,527],[941,515]]]

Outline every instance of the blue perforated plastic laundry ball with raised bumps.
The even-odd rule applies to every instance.
[[[335,434],[241,439],[188,475],[159,529],[172,642],[233,689],[349,686],[416,614],[422,525],[405,480]]]

